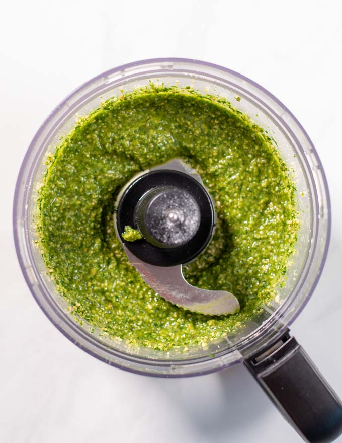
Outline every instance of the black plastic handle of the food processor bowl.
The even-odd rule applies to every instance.
[[[309,443],[342,433],[342,403],[287,331],[245,364],[284,417]]]

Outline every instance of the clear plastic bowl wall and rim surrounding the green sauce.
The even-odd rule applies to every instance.
[[[297,185],[301,226],[296,253],[287,271],[287,284],[274,301],[263,306],[250,322],[212,343],[189,353],[162,353],[148,348],[129,349],[123,342],[103,337],[103,331],[84,321],[81,326],[67,310],[65,300],[46,272],[34,246],[37,189],[60,136],[67,134],[81,115],[87,115],[120,90],[133,91],[149,81],[165,85],[192,85],[203,93],[228,99],[236,108],[267,130]],[[177,82],[177,83],[176,83]],[[234,98],[239,96],[240,101]],[[193,376],[243,361],[261,345],[281,335],[304,308],[321,274],[330,237],[330,202],[327,182],[316,150],[303,127],[272,94],[240,74],[196,60],[160,58],[129,63],[95,77],[72,92],[42,124],[20,169],[15,190],[13,225],[18,259],[37,303],[51,322],[73,343],[91,355],[124,370],[160,376]]]

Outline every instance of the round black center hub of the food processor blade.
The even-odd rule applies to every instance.
[[[138,177],[117,209],[117,229],[126,248],[156,266],[175,266],[197,257],[210,241],[214,220],[213,203],[201,183],[168,169]],[[144,238],[125,241],[126,226],[139,229]]]

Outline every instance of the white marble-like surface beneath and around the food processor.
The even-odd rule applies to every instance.
[[[117,370],[64,338],[22,277],[12,239],[12,199],[35,131],[84,81],[149,57],[198,58],[241,72],[282,100],[311,136],[330,185],[333,229],[323,275],[292,332],[342,396],[338,4],[59,0],[2,6],[2,443],[301,441],[242,366],[185,380]]]

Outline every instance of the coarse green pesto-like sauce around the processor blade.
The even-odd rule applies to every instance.
[[[195,314],[159,297],[116,237],[120,189],[175,157],[201,175],[218,217],[211,243],[184,275],[232,292],[241,306],[232,316]],[[38,198],[42,254],[75,320],[163,351],[206,347],[274,298],[297,229],[294,183],[271,138],[229,102],[192,88],[150,85],[82,118],[50,156]]]

